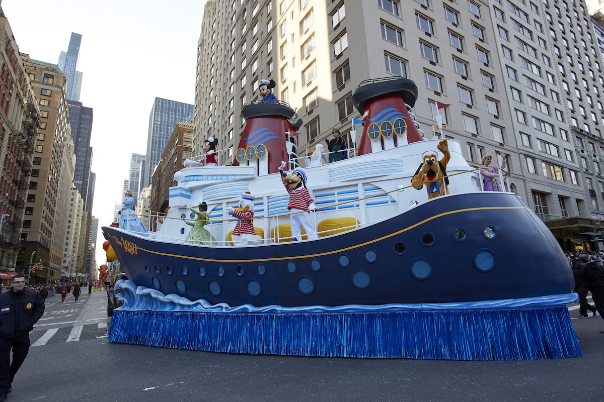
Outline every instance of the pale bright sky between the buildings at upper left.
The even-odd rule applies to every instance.
[[[92,215],[100,228],[121,203],[130,156],[147,152],[156,97],[194,103],[197,44],[205,0],[0,0],[19,51],[56,64],[71,33],[82,34],[80,102],[93,108]]]

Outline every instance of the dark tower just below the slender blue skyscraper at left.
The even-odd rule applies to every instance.
[[[74,151],[76,152],[74,184],[82,194],[84,209],[91,210],[92,203],[88,199],[88,187],[90,166],[92,164],[92,147],[90,146],[92,108],[85,107],[81,102],[76,101],[69,101],[69,106],[69,124],[71,125],[71,137],[74,140]]]

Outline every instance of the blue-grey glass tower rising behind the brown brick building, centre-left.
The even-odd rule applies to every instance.
[[[147,158],[143,186],[149,187],[150,178],[159,162],[165,142],[178,122],[188,122],[193,115],[193,105],[155,98],[149,115],[149,136],[147,136]]]

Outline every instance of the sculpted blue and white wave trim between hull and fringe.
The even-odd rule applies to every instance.
[[[135,285],[129,280],[118,280],[115,289],[121,292],[118,298],[123,306],[121,310],[152,310],[152,311],[193,311],[215,313],[320,313],[320,312],[387,312],[403,310],[452,310],[452,309],[502,309],[506,307],[557,306],[573,303],[578,300],[577,294],[562,294],[542,297],[527,297],[505,300],[486,300],[461,303],[424,303],[424,304],[381,304],[365,306],[348,304],[346,306],[263,306],[251,304],[231,307],[226,303],[211,304],[207,300],[190,301],[187,298],[170,294],[164,295],[155,289]]]

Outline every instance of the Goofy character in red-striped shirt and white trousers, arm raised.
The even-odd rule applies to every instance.
[[[306,188],[306,172],[302,168],[295,168],[288,175],[283,172],[285,165],[286,163],[281,161],[279,172],[281,172],[283,185],[289,193],[288,209],[292,212],[292,215],[290,215],[292,237],[294,241],[301,240],[302,228],[304,228],[309,240],[316,239],[318,236],[308,215],[309,211],[316,210],[316,205]]]

